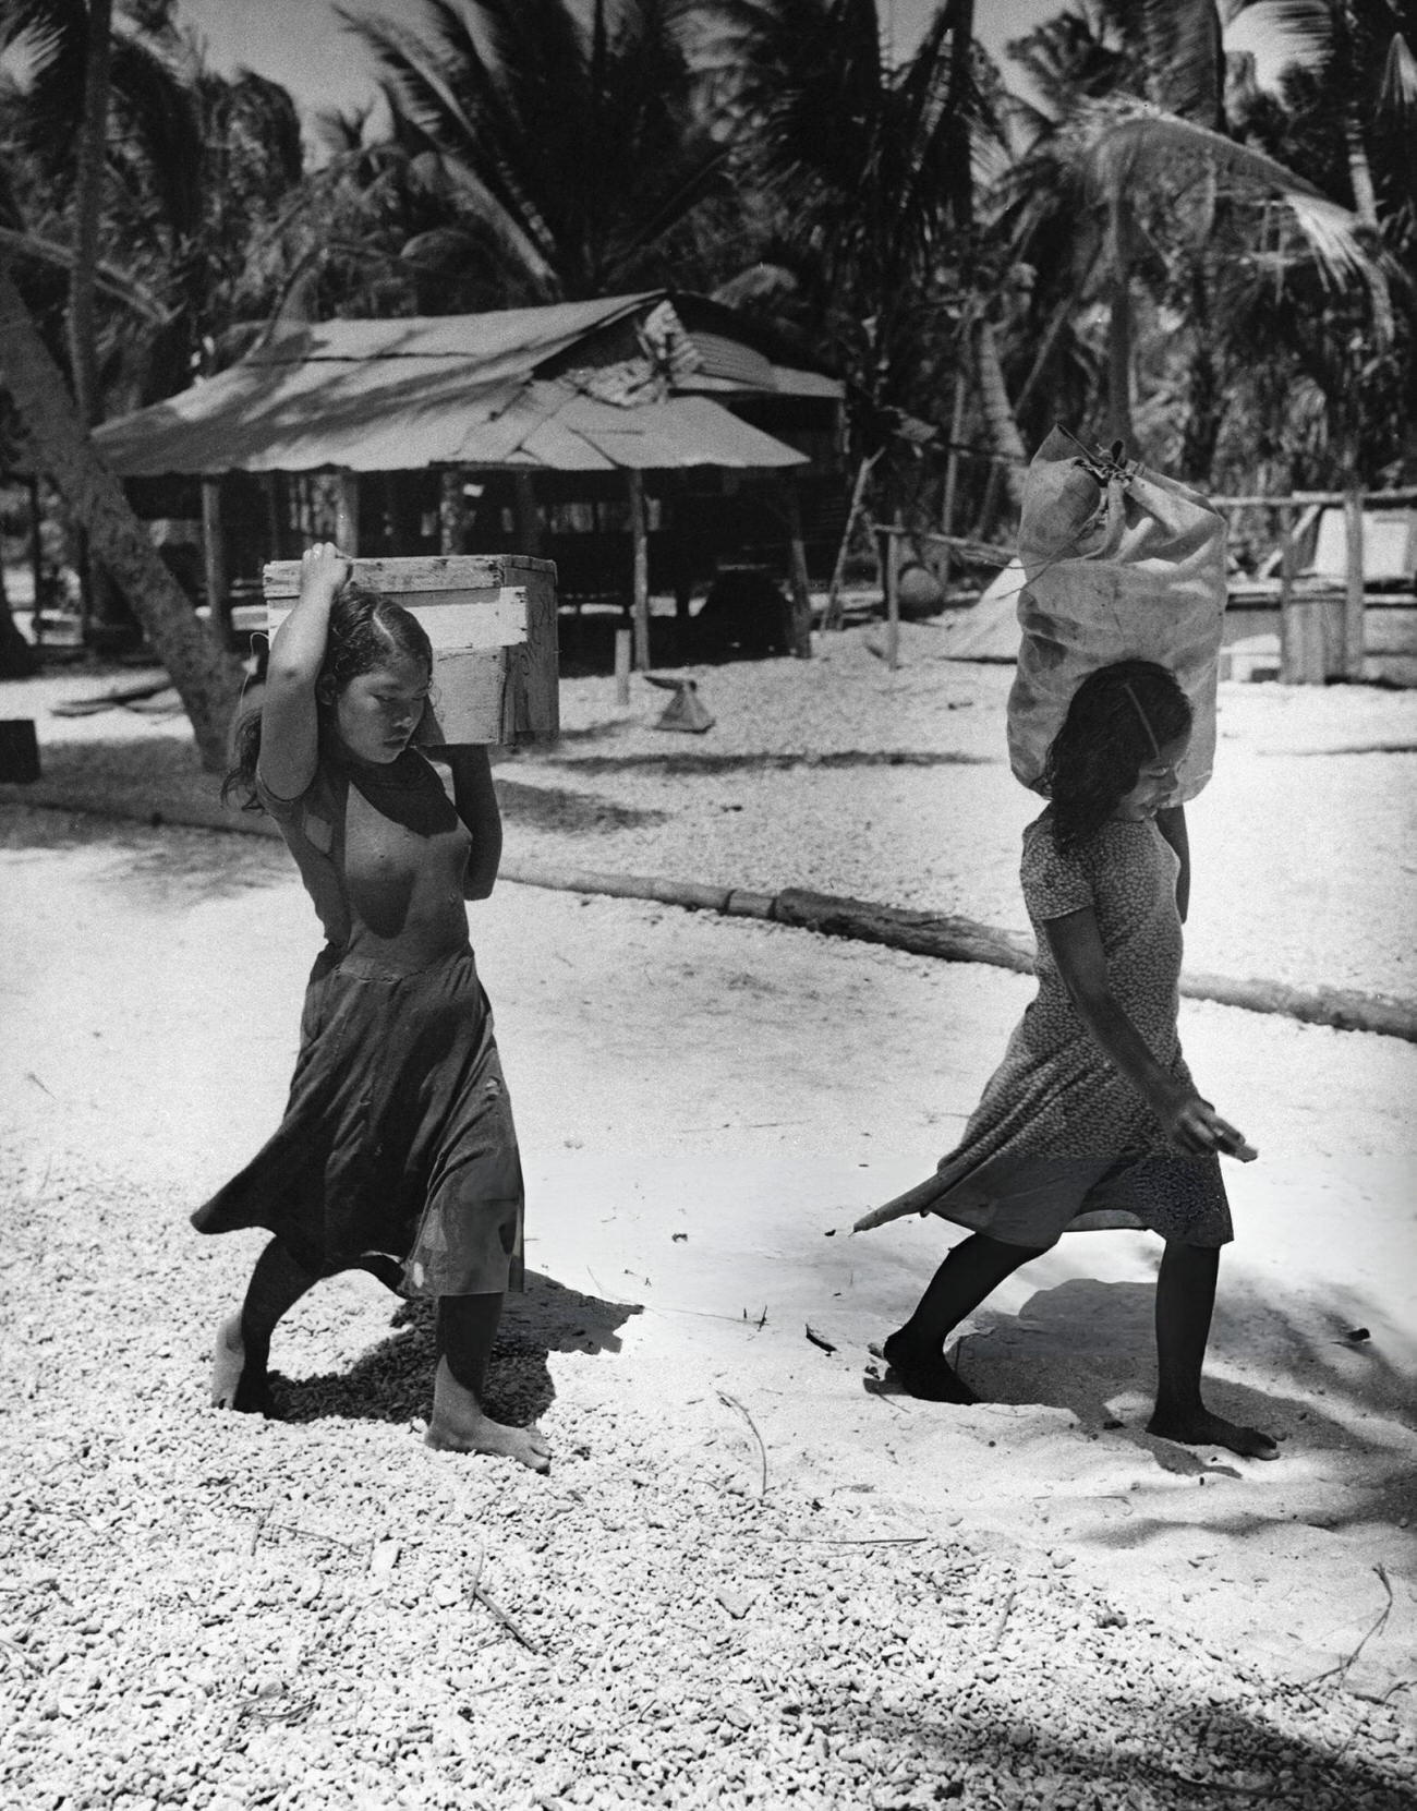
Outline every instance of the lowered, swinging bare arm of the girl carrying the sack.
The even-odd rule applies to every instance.
[[[1042,927],[1079,1018],[1102,1052],[1146,1097],[1171,1143],[1191,1155],[1247,1148],[1241,1132],[1156,1061],[1146,1038],[1122,1011],[1108,978],[1108,956],[1093,907],[1046,918]]]

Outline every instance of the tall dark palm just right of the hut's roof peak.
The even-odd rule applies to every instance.
[[[740,255],[778,273],[793,326],[847,377],[845,554],[867,482],[887,520],[919,487],[921,435],[941,438],[968,357],[972,159],[992,129],[974,4],[945,0],[903,62],[876,0],[708,0],[684,14],[702,105],[760,228]]]

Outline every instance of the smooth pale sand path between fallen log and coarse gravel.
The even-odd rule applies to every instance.
[[[27,949],[5,982],[9,1117],[31,1168],[52,1148],[141,1179],[168,1193],[181,1235],[181,1206],[279,1116],[308,904],[264,844],[85,828],[52,851],[47,829],[5,855],[4,938]],[[519,887],[476,927],[527,1150],[532,1262],[646,1309],[626,1333],[637,1387],[708,1367],[755,1402],[775,1476],[865,1478],[972,1527],[1066,1532],[1138,1605],[1155,1612],[1160,1590],[1187,1621],[1299,1670],[1355,1644],[1383,1563],[1404,1601],[1366,1657],[1401,1670],[1417,1050],[1187,1011],[1193,1067],[1263,1152],[1229,1172],[1240,1241],[1213,1375],[1222,1405],[1287,1445],[1278,1465],[1229,1465],[1138,1433],[1155,1262],[1140,1235],[1070,1241],[981,1311],[963,1364],[990,1405],[863,1391],[867,1344],[950,1235],[910,1221],[847,1237],[849,1222],[952,1143],[1024,980]],[[248,1244],[201,1244],[194,1264],[235,1288]],[[809,1320],[834,1355],[805,1340]],[[1370,1340],[1345,1342],[1355,1326]],[[351,1326],[351,1356],[369,1331]],[[295,1337],[295,1369],[299,1351]],[[1214,1567],[1196,1565],[1205,1554]],[[1281,1577],[1283,1592],[1258,1590]]]

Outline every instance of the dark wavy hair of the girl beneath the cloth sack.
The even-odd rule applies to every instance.
[[[1165,666],[1117,661],[1088,674],[1042,768],[1059,844],[1086,842],[1100,829],[1142,766],[1189,728],[1191,701]]]

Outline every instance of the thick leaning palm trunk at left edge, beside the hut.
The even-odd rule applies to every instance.
[[[0,378],[60,496],[89,534],[94,558],[118,581],[172,676],[203,766],[226,766],[226,730],[241,695],[241,666],[210,636],[143,532],[128,500],[83,431],[63,373],[40,339],[0,263]]]

